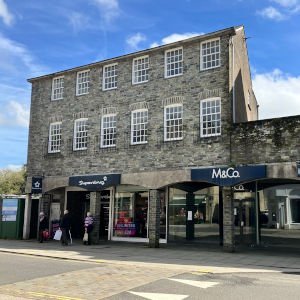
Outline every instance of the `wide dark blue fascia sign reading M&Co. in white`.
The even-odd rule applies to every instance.
[[[215,167],[192,169],[191,180],[201,180],[219,186],[234,186],[241,182],[266,178],[266,166]]]

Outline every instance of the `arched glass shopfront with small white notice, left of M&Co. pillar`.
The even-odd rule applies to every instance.
[[[168,240],[222,243],[220,189],[206,183],[187,182],[169,188]]]

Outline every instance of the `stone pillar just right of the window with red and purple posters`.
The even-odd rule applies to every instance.
[[[160,195],[158,190],[149,190],[149,246],[159,247]]]

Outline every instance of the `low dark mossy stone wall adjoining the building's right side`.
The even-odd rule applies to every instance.
[[[232,162],[287,163],[300,160],[300,116],[232,126]]]

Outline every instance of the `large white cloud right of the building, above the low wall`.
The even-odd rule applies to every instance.
[[[293,77],[278,69],[256,74],[253,89],[260,119],[300,115],[300,76]]]

